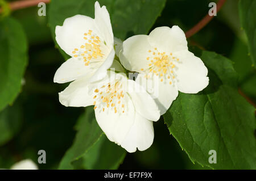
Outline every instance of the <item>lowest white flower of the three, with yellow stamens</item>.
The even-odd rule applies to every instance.
[[[59,93],[64,106],[94,105],[97,123],[110,141],[129,152],[146,150],[154,140],[152,121],[159,120],[155,101],[137,82],[122,73],[108,71],[101,81],[88,77],[73,81]]]

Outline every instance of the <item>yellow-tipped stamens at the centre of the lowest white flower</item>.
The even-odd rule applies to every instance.
[[[94,110],[103,112],[112,110],[114,113],[125,113],[126,94],[123,94],[122,83],[107,83],[93,91]]]

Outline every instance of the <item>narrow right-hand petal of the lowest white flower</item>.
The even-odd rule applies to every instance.
[[[159,108],[144,87],[130,79],[128,80],[128,87],[135,110],[148,120],[158,121],[160,118]]]

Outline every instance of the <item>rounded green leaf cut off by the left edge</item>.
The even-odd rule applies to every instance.
[[[13,103],[20,92],[27,66],[27,40],[13,18],[0,21],[0,110]]]

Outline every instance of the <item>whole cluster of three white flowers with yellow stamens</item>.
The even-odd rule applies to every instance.
[[[152,145],[153,121],[170,108],[178,91],[197,93],[209,83],[207,68],[188,51],[177,26],[122,42],[113,36],[108,10],[96,2],[94,19],[67,18],[55,33],[60,48],[71,56],[54,77],[57,83],[72,81],[59,93],[60,103],[94,105],[102,131],[129,152]],[[135,81],[127,71],[138,73]]]

